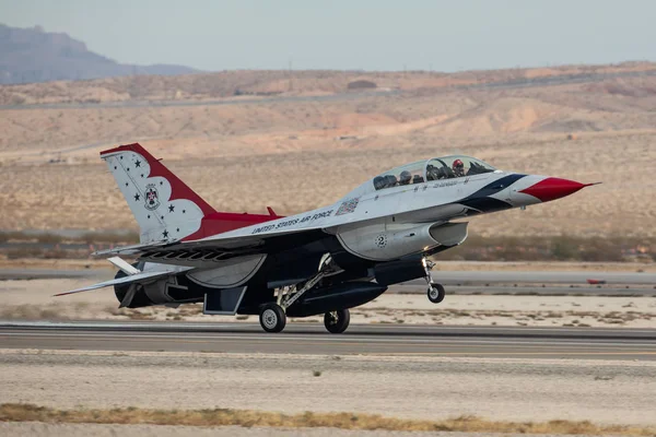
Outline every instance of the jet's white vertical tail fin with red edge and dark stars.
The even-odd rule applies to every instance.
[[[142,244],[178,240],[216,211],[140,144],[101,152],[139,223]]]

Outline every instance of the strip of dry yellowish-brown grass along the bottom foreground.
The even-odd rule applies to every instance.
[[[265,427],[270,429],[271,435],[328,435],[330,429],[362,432],[363,435],[376,432],[389,435],[388,432],[397,432],[395,435],[408,435],[403,432],[432,432],[444,435],[444,432],[459,433],[462,436],[480,435],[617,435],[625,437],[649,437],[656,432],[653,426],[640,425],[599,425],[589,421],[549,421],[549,422],[501,422],[485,421],[475,416],[460,416],[442,421],[403,420],[386,417],[378,414],[355,413],[315,413],[305,412],[297,414],[274,413],[265,411],[232,410],[232,409],[202,409],[202,410],[154,410],[154,409],[67,409],[59,410],[35,404],[0,404],[0,421],[26,422],[27,427],[35,427],[35,422],[46,423],[35,427],[43,433],[48,426],[57,428],[60,424],[125,424],[124,430],[154,432],[149,425],[162,425],[166,435],[169,433],[191,433],[190,427],[198,430],[212,427],[219,433],[232,430],[237,435],[261,435]],[[171,426],[173,425],[173,426]],[[239,428],[242,427],[242,428]],[[116,432],[121,427],[97,427],[104,433]],[[253,428],[253,430],[250,430]],[[61,430],[66,427],[61,426]],[[71,432],[79,428],[70,427]],[[306,434],[303,434],[306,433]],[[484,434],[483,434],[484,433]],[[493,434],[494,433],[494,434]],[[224,434],[221,434],[224,435]],[[284,435],[284,434],[283,434]],[[335,435],[344,435],[336,433]],[[347,434],[348,435],[348,434]],[[422,434],[425,435],[425,434]]]

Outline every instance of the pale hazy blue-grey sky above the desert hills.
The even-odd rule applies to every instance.
[[[656,60],[652,0],[0,0],[129,63],[456,71]]]

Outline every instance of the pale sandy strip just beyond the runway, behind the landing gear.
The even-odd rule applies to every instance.
[[[107,271],[106,277],[114,273]],[[256,316],[206,316],[200,304],[177,309],[163,306],[118,309],[108,288],[52,297],[55,293],[95,282],[33,280],[0,282],[0,319],[9,320],[160,320],[257,322]],[[420,287],[423,290],[423,287]],[[292,322],[321,323],[320,317]],[[656,298],[605,296],[448,295],[435,306],[422,294],[386,293],[351,310],[352,323],[422,323],[449,326],[656,328]]]

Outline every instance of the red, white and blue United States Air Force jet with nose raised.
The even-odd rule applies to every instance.
[[[431,256],[467,238],[464,220],[572,194],[593,184],[499,170],[442,156],[385,172],[328,206],[292,216],[218,212],[140,144],[101,152],[140,227],[140,243],[96,252],[119,271],[120,307],[202,303],[207,315],[259,315],[267,332],[286,317],[325,315],[341,333],[349,308],[393,284],[424,277],[444,299]],[[137,258],[133,264],[120,256]]]

